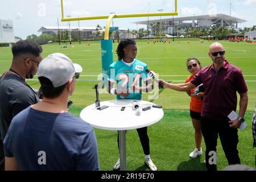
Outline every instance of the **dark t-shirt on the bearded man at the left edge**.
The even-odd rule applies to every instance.
[[[0,79],[0,138],[5,138],[11,119],[39,102],[38,96],[18,75],[7,73]]]

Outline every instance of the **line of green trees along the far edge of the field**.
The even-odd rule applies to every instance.
[[[164,23],[156,22],[156,23],[151,23],[151,31],[145,30],[145,28],[139,28],[138,30],[130,30],[128,28],[127,30],[127,38],[146,38],[148,34],[154,35],[156,37],[158,36],[166,36],[166,25]],[[104,39],[105,32],[105,27],[101,27],[99,24],[96,27],[96,31],[92,32],[90,34],[89,39],[91,40],[101,40]],[[209,28],[196,28],[196,27],[187,27],[185,30],[182,30],[180,26],[176,26],[174,28],[174,32],[171,32],[171,35],[174,34],[175,36],[180,36],[181,34],[187,37],[208,37],[210,36],[211,38],[218,38],[218,39],[226,39],[229,34],[236,34],[238,33],[234,28],[228,29],[227,27],[221,27],[221,26],[211,26]],[[256,31],[256,26],[252,27],[245,27],[243,28],[241,35],[244,35],[245,32],[250,32],[250,31]],[[110,39],[114,37],[114,39],[117,39],[117,31],[110,31],[109,36]],[[35,34],[28,35],[27,39],[28,40],[34,40],[35,42],[38,42],[39,44],[46,44],[49,42],[68,42],[69,41],[69,31],[65,30],[62,32],[59,32],[57,34],[52,33],[51,35],[49,34],[42,34],[40,36],[37,36]],[[131,36],[131,37],[130,37]],[[71,32],[71,38],[72,41],[79,41],[82,40],[81,36],[79,37],[78,31],[72,31]]]

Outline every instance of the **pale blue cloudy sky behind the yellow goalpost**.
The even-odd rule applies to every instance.
[[[115,14],[147,13],[174,10],[174,0],[64,0],[65,16],[92,16]],[[232,16],[247,20],[238,24],[238,27],[251,27],[256,24],[256,0],[178,0],[179,16],[205,15],[210,13],[230,14],[232,3]],[[209,6],[207,6],[209,5]],[[14,22],[14,34],[23,39],[27,35],[36,34],[42,26],[57,26],[57,18],[61,18],[60,0],[8,0],[1,1],[0,19],[11,19]],[[150,17],[157,19],[159,17]],[[162,16],[162,18],[164,18]],[[170,16],[166,16],[170,18]],[[137,29],[139,26],[131,22],[147,20],[143,18],[114,19],[114,26],[121,28]],[[80,26],[96,27],[105,26],[106,20],[80,21]],[[67,22],[60,22],[60,26],[67,26]],[[78,26],[71,22],[71,26]],[[146,28],[146,27],[145,27]]]

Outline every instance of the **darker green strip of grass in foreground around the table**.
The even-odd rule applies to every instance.
[[[80,115],[81,107],[72,107],[69,111]],[[255,151],[252,150],[251,118],[253,112],[247,111],[245,120],[248,124],[243,131],[238,130],[241,163],[255,167]],[[114,116],[113,116],[114,117]],[[119,158],[117,131],[94,129],[98,143],[101,170],[112,170]],[[189,110],[164,110],[164,117],[158,123],[148,126],[150,138],[150,156],[159,171],[204,171],[206,170],[205,144],[202,140],[203,154],[196,159],[189,159],[189,153],[195,148],[194,129]],[[220,140],[217,146],[217,168],[228,166]],[[144,165],[144,154],[136,130],[126,133],[126,164],[129,171],[148,171]]]

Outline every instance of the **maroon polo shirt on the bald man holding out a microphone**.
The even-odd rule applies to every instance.
[[[226,120],[229,113],[237,109],[237,92],[245,93],[248,90],[241,69],[227,60],[218,71],[213,64],[201,69],[190,82],[196,86],[204,84],[201,116],[210,119]]]

